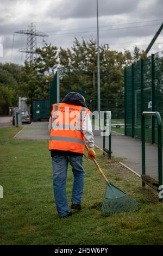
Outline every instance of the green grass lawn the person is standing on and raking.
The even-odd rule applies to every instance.
[[[52,164],[47,141],[13,139],[20,128],[0,129],[1,245],[162,245],[163,204],[155,191],[108,160],[96,149],[110,181],[140,203],[140,210],[104,217],[101,203],[105,182],[91,160],[84,159],[82,211],[60,219],[55,209]],[[68,169],[67,196],[71,204],[73,175]]]

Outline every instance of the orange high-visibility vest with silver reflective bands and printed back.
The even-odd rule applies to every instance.
[[[52,129],[49,150],[72,151],[84,154],[85,138],[82,131],[86,107],[58,103],[51,112]]]

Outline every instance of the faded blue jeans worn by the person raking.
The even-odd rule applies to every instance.
[[[68,162],[70,162],[72,166],[74,177],[71,201],[73,204],[82,203],[85,174],[83,169],[83,156],[53,156],[54,199],[59,216],[66,216],[69,213],[66,196]]]

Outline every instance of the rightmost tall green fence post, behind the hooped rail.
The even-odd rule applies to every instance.
[[[151,55],[151,87],[152,87],[152,111],[155,111],[155,68],[154,68],[154,54]],[[152,144],[155,143],[155,117],[152,116]]]

